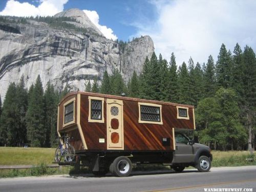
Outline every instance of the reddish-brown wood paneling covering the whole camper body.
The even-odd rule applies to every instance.
[[[80,125],[88,150],[106,150],[106,98],[119,99],[123,101],[123,126],[124,126],[124,150],[132,151],[150,151],[150,150],[174,150],[173,146],[173,127],[175,129],[194,129],[193,106],[182,105],[176,103],[150,101],[144,99],[135,99],[127,97],[118,97],[111,95],[102,95],[94,93],[81,94],[80,106]],[[76,94],[76,93],[75,93]],[[75,94],[70,94],[61,103],[71,99]],[[96,96],[104,98],[104,122],[88,122],[89,115],[89,99],[88,96]],[[157,103],[162,105],[162,121],[163,124],[139,123],[139,106],[138,102]],[[189,119],[177,119],[177,106],[188,108]],[[61,109],[62,108],[62,109]],[[60,104],[59,127],[63,123],[63,106]],[[115,127],[117,122],[111,122],[111,126]],[[65,130],[64,130],[65,131]],[[81,150],[81,142],[79,140],[79,132],[74,130],[70,132],[76,138],[74,141],[76,150]],[[163,146],[163,138],[170,138],[170,145]],[[104,139],[104,143],[99,142]],[[117,136],[112,138],[114,141]],[[166,145],[166,144],[164,144]]]

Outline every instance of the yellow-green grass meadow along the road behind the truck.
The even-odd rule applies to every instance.
[[[46,165],[53,163],[54,153],[55,148],[0,147],[0,165],[38,166],[26,170],[0,170],[0,178],[74,173],[72,167],[64,167],[62,170],[58,170],[57,168],[48,168]],[[247,151],[212,151],[211,153],[214,159],[212,161],[212,167],[256,165],[256,152],[254,152],[254,156],[250,156],[250,153]],[[169,169],[169,166],[166,167],[162,165],[143,165],[142,167],[138,166],[135,168],[135,170],[147,169]],[[87,168],[83,170],[88,171]]]

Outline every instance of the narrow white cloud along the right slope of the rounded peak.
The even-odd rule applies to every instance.
[[[87,14],[92,23],[100,30],[101,33],[103,33],[106,38],[113,40],[117,39],[117,36],[113,33],[111,28],[99,24],[99,15],[96,11],[83,10],[83,12]]]

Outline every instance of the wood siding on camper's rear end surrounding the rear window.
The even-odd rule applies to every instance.
[[[77,98],[76,98],[76,93],[71,93],[69,95],[67,95],[67,97],[65,97],[63,100],[61,100],[61,102],[59,103],[59,119],[58,119],[58,131],[61,132],[63,131],[64,129],[71,129],[71,127],[75,126],[76,125],[76,116],[77,116],[77,110],[75,110],[75,115],[74,115],[74,123],[72,124],[69,124],[67,126],[63,126],[63,117],[64,117],[64,103],[66,103],[67,101],[75,98],[75,101],[74,101],[74,106],[75,106],[75,109],[77,109]]]

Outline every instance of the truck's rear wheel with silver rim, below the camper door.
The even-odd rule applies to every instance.
[[[110,165],[110,172],[117,177],[127,177],[132,172],[132,162],[129,158],[117,157]]]

